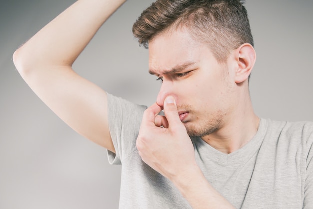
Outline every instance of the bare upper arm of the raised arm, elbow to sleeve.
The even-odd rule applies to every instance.
[[[76,132],[115,152],[108,128],[106,92],[70,66],[21,73],[39,98]]]

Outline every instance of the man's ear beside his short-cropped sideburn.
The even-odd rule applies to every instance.
[[[249,78],[256,60],[256,53],[251,44],[244,43],[235,50],[234,55],[237,63],[235,82],[239,84]]]

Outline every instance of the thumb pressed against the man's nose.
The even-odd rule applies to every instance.
[[[166,97],[164,101],[164,113],[168,121],[169,128],[177,124],[181,124],[174,97],[172,96]]]

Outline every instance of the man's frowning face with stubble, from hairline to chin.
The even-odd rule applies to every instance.
[[[184,30],[149,42],[149,72],[162,80],[157,104],[175,98],[180,120],[191,136],[205,136],[227,123],[234,98],[228,62],[217,62],[207,45]]]

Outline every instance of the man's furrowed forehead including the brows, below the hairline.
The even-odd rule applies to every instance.
[[[149,73],[179,72],[212,56],[209,46],[195,40],[186,30],[167,31],[149,42]]]

